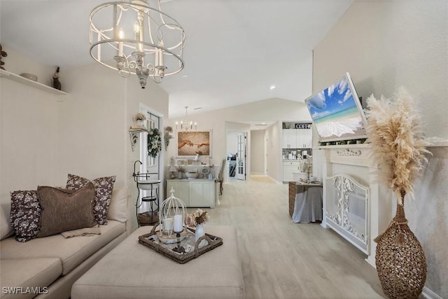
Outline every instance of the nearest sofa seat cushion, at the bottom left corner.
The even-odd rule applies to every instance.
[[[33,298],[36,293],[48,293],[48,286],[62,273],[59,258],[2,258],[0,265],[2,299]],[[8,287],[18,287],[15,288],[18,293],[5,294]]]

